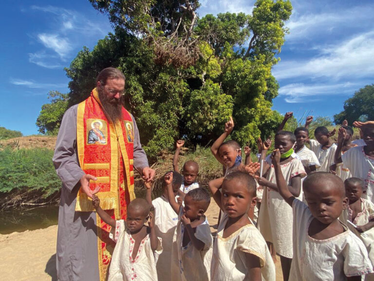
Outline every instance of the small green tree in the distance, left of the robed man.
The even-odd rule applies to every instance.
[[[62,117],[68,109],[69,96],[58,91],[50,91],[48,99],[51,102],[41,106],[36,124],[41,134],[57,135]]]

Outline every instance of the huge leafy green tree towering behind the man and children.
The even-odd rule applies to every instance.
[[[199,19],[197,0],[90,0],[114,34],[83,48],[66,69],[69,104],[88,97],[100,70],[127,77],[125,107],[135,116],[150,156],[177,138],[206,145],[230,115],[233,138],[255,145],[281,121],[272,111],[279,85],[271,74],[291,15],[288,0],[258,0],[252,15]]]

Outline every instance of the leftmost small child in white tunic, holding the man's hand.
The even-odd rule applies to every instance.
[[[100,207],[100,200],[93,195],[93,206],[100,218],[112,226],[116,242],[108,281],[157,281],[154,254],[162,252],[161,239],[154,227],[152,206],[141,198],[134,199],[127,207],[126,221],[116,221]],[[149,226],[144,225],[149,221]]]

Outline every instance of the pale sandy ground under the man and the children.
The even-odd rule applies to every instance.
[[[219,208],[212,202],[206,211],[213,235]],[[57,225],[45,229],[0,235],[2,281],[56,281]],[[277,281],[282,281],[281,262],[276,262]]]

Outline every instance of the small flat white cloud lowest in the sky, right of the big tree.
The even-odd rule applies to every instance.
[[[353,94],[360,86],[359,83],[336,83],[336,84],[304,84],[291,83],[279,89],[279,95],[289,103],[310,102],[326,99],[327,95]]]

